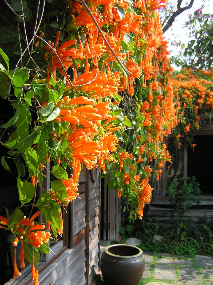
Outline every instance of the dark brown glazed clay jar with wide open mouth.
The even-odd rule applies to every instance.
[[[101,272],[107,285],[138,285],[145,267],[143,251],[125,244],[107,246],[101,255]]]

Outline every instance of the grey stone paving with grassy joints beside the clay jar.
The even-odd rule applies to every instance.
[[[213,285],[213,260],[207,256],[194,258],[144,251],[146,261],[139,285]],[[104,281],[94,282],[104,285]],[[113,285],[113,284],[112,284]]]

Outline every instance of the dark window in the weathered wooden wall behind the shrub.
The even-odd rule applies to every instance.
[[[195,176],[200,184],[203,196],[213,195],[213,133],[199,133],[193,136],[194,148],[187,145],[186,136],[180,137],[180,149],[173,147],[170,140],[168,150],[172,164],[166,163],[161,179],[161,197],[168,196],[167,189],[170,183],[178,181],[182,176]],[[169,168],[168,168],[169,167]]]

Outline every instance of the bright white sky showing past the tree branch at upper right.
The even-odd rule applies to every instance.
[[[190,0],[183,1],[181,7],[185,7],[189,1]],[[171,3],[174,4],[174,7],[177,7],[177,0],[171,0]],[[165,39],[169,42],[168,49],[171,56],[175,56],[180,50],[180,47],[172,46],[171,42],[174,40],[179,42],[180,40],[185,45],[189,42],[189,31],[184,25],[189,19],[189,14],[193,14],[202,4],[204,5],[204,8],[202,9],[203,13],[213,14],[213,0],[195,0],[193,7],[177,16],[172,26],[163,34]]]

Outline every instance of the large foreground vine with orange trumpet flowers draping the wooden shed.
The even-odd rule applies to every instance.
[[[21,243],[20,267],[26,256],[38,284],[39,251],[62,235],[82,167],[108,175],[130,219],[142,218],[149,178],[170,161],[163,138],[180,119],[158,15],[164,0],[10,2],[16,28],[7,21],[0,31],[0,86],[14,113],[1,126],[10,132],[1,163],[9,171],[15,163],[20,206],[0,227],[12,233],[14,277]],[[49,162],[55,178],[36,200]]]

